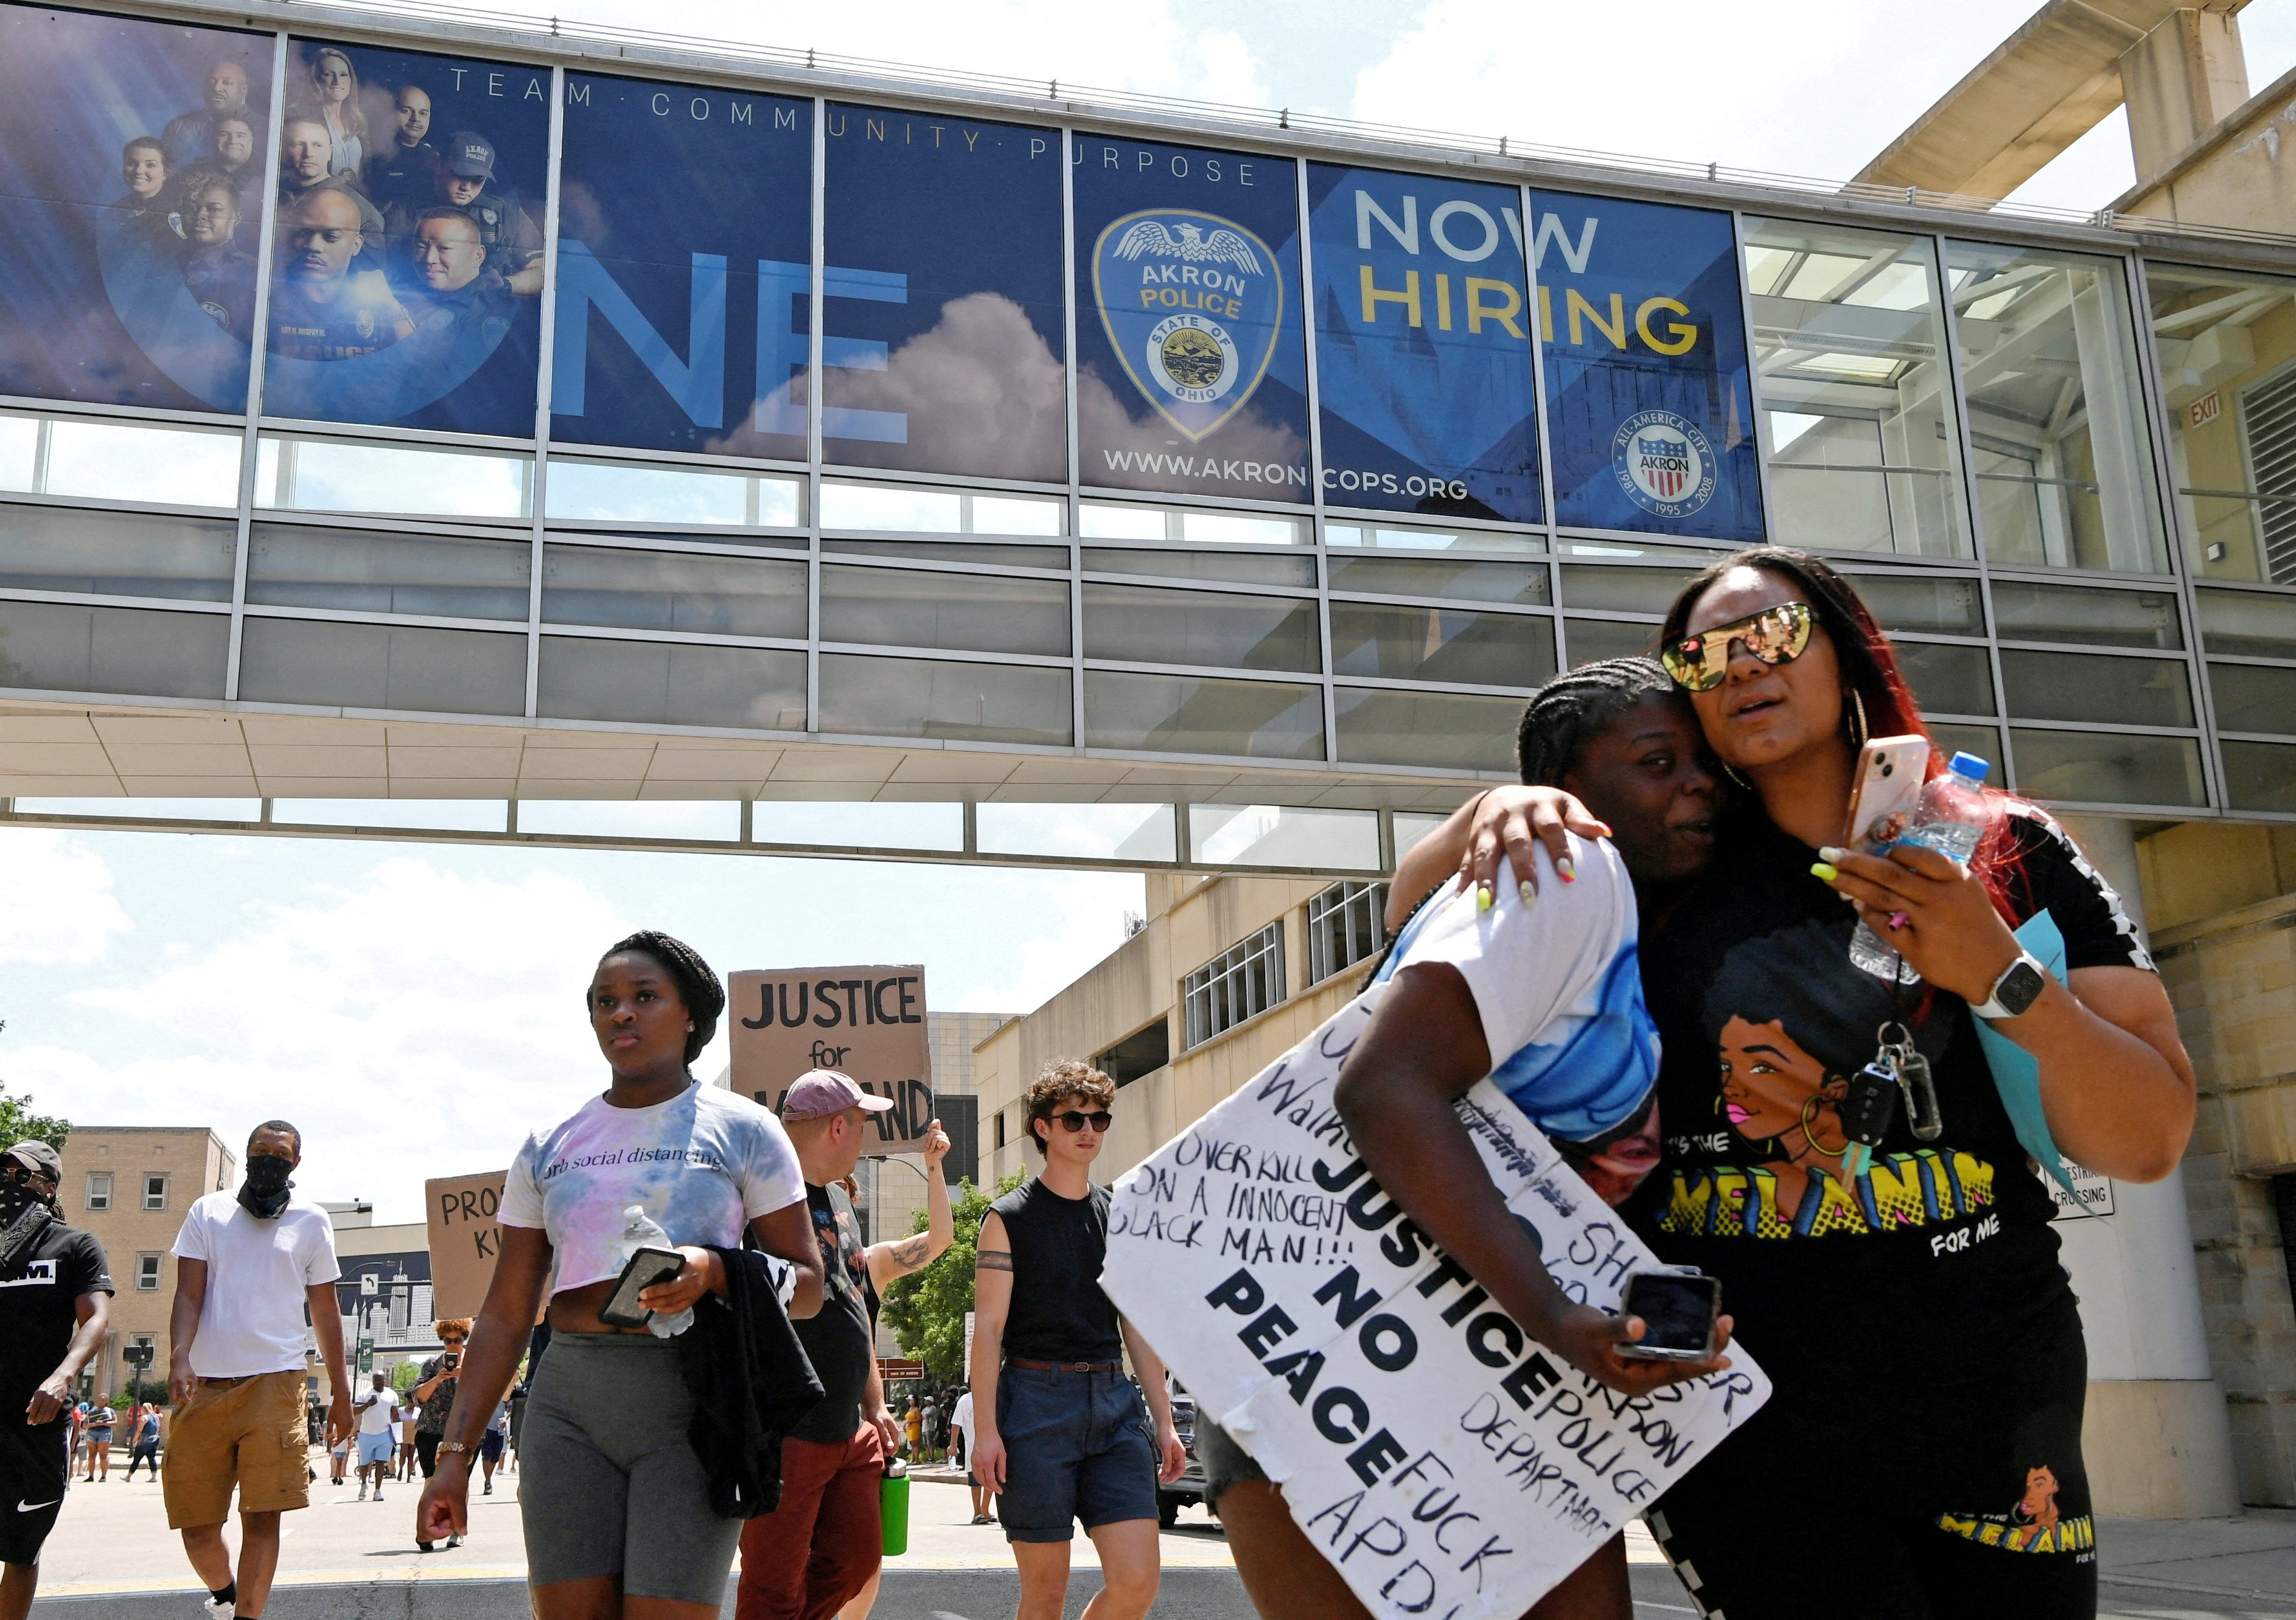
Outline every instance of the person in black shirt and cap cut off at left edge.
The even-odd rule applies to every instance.
[[[0,1620],[32,1609],[71,1473],[71,1384],[113,1317],[103,1246],[55,1212],[62,1179],[48,1143],[0,1154]]]

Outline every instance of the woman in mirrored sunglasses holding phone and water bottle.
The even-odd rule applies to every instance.
[[[1644,938],[1662,1161],[1628,1214],[1722,1278],[1775,1393],[1651,1528],[1708,1613],[2094,1615],[2080,1315],[1977,1021],[2037,1062],[2069,1159],[2161,1179],[2193,1072],[2151,959],[2064,828],[2007,794],[1926,789],[1917,835],[1968,847],[1975,817],[1968,865],[1841,847],[1864,743],[1926,732],[1818,558],[1708,567],[1660,656],[1740,803]],[[1527,792],[1474,812],[1476,879],[1575,812]],[[2014,934],[2043,911],[2062,978]],[[1853,959],[1860,922],[1906,971]]]

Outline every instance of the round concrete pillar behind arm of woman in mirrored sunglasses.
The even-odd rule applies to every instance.
[[[2069,815],[2064,826],[2144,929],[2133,824]],[[2096,1512],[2239,1512],[2225,1393],[2202,1333],[2183,1173],[2149,1186],[2110,1182],[2108,1191],[2110,1214],[2057,1221],[2089,1347],[2082,1452]]]

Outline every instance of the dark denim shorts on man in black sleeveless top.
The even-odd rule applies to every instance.
[[[1123,1372],[1006,1368],[996,1379],[1006,1487],[996,1517],[1008,1542],[1065,1542],[1155,1519],[1155,1439],[1148,1404]]]

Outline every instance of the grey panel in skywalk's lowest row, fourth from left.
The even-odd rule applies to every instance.
[[[822,654],[822,730],[980,743],[1075,739],[1068,670]]]

